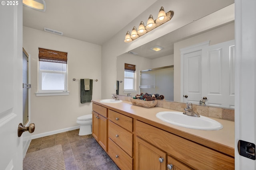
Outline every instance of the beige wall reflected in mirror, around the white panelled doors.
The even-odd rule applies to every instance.
[[[233,40],[235,39],[234,36],[234,22],[232,22],[217,29],[213,29],[200,35],[196,35],[183,41],[174,43],[174,101],[180,102],[181,96],[183,95],[181,94],[180,85],[180,49],[191,45],[196,45],[204,41],[210,41],[210,45],[214,45],[217,43]]]

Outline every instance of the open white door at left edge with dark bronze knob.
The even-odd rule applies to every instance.
[[[0,5],[0,169],[22,169],[22,1]]]

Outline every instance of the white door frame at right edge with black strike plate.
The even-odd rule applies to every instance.
[[[241,156],[238,141],[256,144],[256,1],[235,0],[235,169],[255,170],[249,153]],[[250,148],[250,147],[248,147]],[[240,148],[241,149],[241,148]],[[242,147],[246,150],[246,147]],[[255,156],[255,147],[254,147]]]

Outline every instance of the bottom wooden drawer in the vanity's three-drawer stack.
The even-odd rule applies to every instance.
[[[132,170],[133,159],[109,138],[108,155],[121,170]]]

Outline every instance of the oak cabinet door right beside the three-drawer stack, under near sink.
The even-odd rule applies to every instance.
[[[136,137],[136,170],[166,170],[166,153]]]

